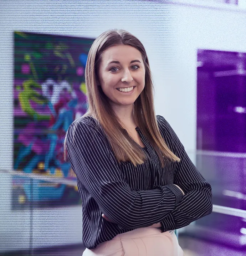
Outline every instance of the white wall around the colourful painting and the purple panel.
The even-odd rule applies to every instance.
[[[12,168],[13,31],[81,37],[97,37],[111,28],[132,32],[149,55],[156,113],[168,120],[194,163],[196,50],[246,52],[245,12],[235,8],[166,7],[153,1],[1,1],[0,16],[0,170]],[[27,248],[30,213],[11,212],[11,179],[0,173],[0,183],[0,251]],[[33,217],[34,247],[81,242],[80,207],[36,210]]]

